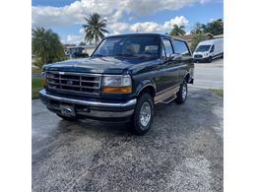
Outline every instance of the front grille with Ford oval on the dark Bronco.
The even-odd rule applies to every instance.
[[[65,93],[100,94],[101,75],[73,72],[47,72],[47,89]]]

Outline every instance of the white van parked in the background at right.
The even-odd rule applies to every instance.
[[[224,38],[214,38],[199,42],[194,53],[195,61],[207,61],[224,56]]]

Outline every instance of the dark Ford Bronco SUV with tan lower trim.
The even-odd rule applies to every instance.
[[[194,64],[184,40],[136,33],[108,36],[89,58],[44,65],[42,74],[39,96],[58,116],[126,121],[142,135],[155,104],[186,100]]]

